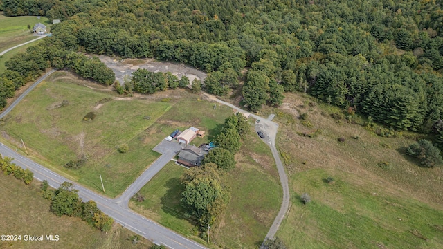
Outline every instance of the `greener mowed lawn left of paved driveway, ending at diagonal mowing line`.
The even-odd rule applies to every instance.
[[[22,138],[31,158],[93,190],[100,191],[102,174],[106,194],[116,196],[159,156],[151,149],[160,140],[141,148],[134,138],[172,105],[112,97],[73,82],[43,82],[1,122],[3,138],[24,151]],[[89,112],[96,118],[84,121]],[[127,154],[117,151],[123,143]],[[63,167],[83,155],[81,169]]]

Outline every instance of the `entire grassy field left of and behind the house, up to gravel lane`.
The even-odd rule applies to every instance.
[[[22,153],[20,139],[24,139],[33,160],[98,192],[101,174],[106,194],[113,197],[158,158],[152,148],[172,131],[199,127],[208,131],[208,136],[194,142],[208,142],[217,133],[217,125],[232,113],[223,106],[213,109],[212,103],[183,89],[169,94],[188,95],[186,100],[168,98],[162,102],[150,96],[127,100],[79,82],[72,75],[55,73],[0,122],[0,139]],[[89,112],[96,118],[84,121]],[[124,143],[129,151],[120,154],[117,148]],[[83,155],[88,161],[81,169],[63,167]]]

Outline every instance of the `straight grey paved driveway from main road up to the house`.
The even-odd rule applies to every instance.
[[[161,156],[148,167],[145,172],[143,172],[134,183],[129,185],[125,192],[121,196],[118,196],[116,199],[116,203],[118,205],[121,205],[125,208],[127,208],[127,205],[129,203],[129,199],[131,199],[134,194],[136,194],[141,188],[152,179],[169,161],[174,158],[180,151],[181,151],[181,145],[177,141],[166,141],[162,140],[154,149],[153,151],[159,152]]]

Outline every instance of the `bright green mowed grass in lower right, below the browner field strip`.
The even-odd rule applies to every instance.
[[[335,181],[323,182],[328,176]],[[277,236],[297,248],[442,248],[443,210],[384,187],[343,172],[300,172],[291,178],[291,211]]]

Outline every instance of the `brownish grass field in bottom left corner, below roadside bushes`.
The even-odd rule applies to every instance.
[[[141,238],[132,245],[133,232],[114,225],[107,234],[78,218],[58,217],[49,211],[50,201],[39,194],[39,182],[24,185],[13,176],[0,174],[0,233],[21,234],[21,241],[2,241],[0,248],[147,248],[152,243]],[[24,241],[23,235],[57,234],[59,241]]]

